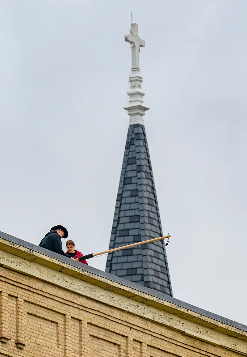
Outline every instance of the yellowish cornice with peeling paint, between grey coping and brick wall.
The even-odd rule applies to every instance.
[[[246,331],[2,238],[0,238],[0,265],[98,303],[172,328],[184,336],[247,355]],[[53,293],[56,295],[56,289]]]

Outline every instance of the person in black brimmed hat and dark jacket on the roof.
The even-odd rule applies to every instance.
[[[62,250],[61,238],[66,239],[67,237],[68,237],[68,231],[65,227],[61,225],[54,226],[51,228],[50,232],[46,233],[45,237],[43,237],[39,246],[51,250],[52,252],[71,258]]]

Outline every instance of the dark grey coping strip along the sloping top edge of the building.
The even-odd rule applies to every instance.
[[[62,255],[60,255],[58,253],[52,252],[52,251],[47,250],[45,248],[41,248],[39,246],[36,246],[35,244],[23,241],[23,240],[21,240],[19,238],[16,238],[14,236],[11,236],[11,235],[9,235],[7,233],[4,233],[4,232],[1,232],[1,231],[0,231],[0,238],[3,238],[4,240],[7,240],[7,241],[12,242],[12,243],[15,243],[15,244],[20,245],[22,247],[25,247],[27,249],[31,249],[31,250],[33,250],[35,252],[41,253],[41,254],[46,255],[48,257],[55,258],[55,259],[57,259],[57,260],[59,260],[61,262],[64,262],[66,264],[70,264],[70,265],[75,266],[77,268],[81,267],[81,265],[80,265],[81,263],[79,263],[77,261],[73,261],[73,260],[71,260],[71,259],[69,259],[69,258],[67,258],[65,256],[62,256]],[[93,268],[93,267],[88,266],[86,264],[83,264],[83,270],[86,270],[86,271],[88,271],[90,273],[93,273],[95,275],[98,275],[100,277],[109,279],[109,280],[114,281],[116,283],[119,283],[121,285],[127,286],[129,288],[133,288],[133,289],[135,289],[137,291],[140,291],[140,292],[146,293],[148,295],[157,297],[157,298],[159,298],[161,300],[165,300],[165,301],[171,302],[171,303],[173,303],[173,304],[175,304],[177,306],[183,307],[183,308],[185,308],[187,310],[199,313],[200,315],[209,317],[209,318],[211,318],[213,320],[225,323],[226,325],[229,325],[229,326],[232,326],[232,327],[235,327],[235,328],[238,328],[238,329],[240,329],[242,331],[246,331],[247,332],[247,326],[243,325],[242,323],[229,320],[228,318],[225,318],[225,317],[222,317],[222,316],[217,315],[215,313],[206,311],[206,310],[201,309],[199,307],[196,307],[194,305],[190,305],[187,302],[178,300],[178,299],[176,299],[174,297],[171,297],[170,295],[167,295],[167,294],[162,293],[160,291],[153,290],[153,289],[150,289],[150,288],[146,288],[146,287],[144,287],[142,285],[139,285],[139,284],[134,283],[132,281],[129,281],[129,280],[120,278],[118,276],[112,275],[112,274],[107,273],[105,271]]]

